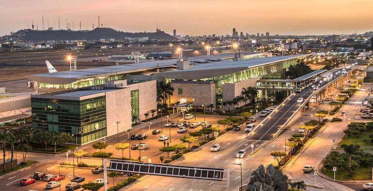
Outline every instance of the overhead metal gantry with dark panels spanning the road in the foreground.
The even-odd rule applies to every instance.
[[[109,165],[106,163],[109,163]],[[105,191],[107,191],[107,170],[134,174],[195,178],[204,180],[227,180],[227,190],[229,191],[229,169],[224,170],[104,159]],[[225,175],[226,177],[224,177]]]

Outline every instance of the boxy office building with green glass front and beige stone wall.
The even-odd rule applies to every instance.
[[[71,133],[84,145],[124,132],[156,110],[156,81],[31,95],[31,108],[32,128]]]

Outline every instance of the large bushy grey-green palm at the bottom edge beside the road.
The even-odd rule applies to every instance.
[[[264,167],[260,165],[256,171],[251,173],[249,186],[254,184],[261,184],[262,188],[272,187],[274,191],[286,191],[288,188],[288,176],[283,175],[279,169],[276,169],[272,164]],[[258,182],[258,183],[256,183]],[[268,188],[267,188],[268,189]]]

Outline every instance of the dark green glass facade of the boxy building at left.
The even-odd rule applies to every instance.
[[[79,145],[106,136],[105,96],[81,101],[31,98],[31,108],[34,129],[77,134]]]

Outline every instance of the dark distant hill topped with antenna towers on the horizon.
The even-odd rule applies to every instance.
[[[17,41],[63,41],[63,40],[124,40],[126,37],[149,37],[149,40],[175,40],[173,36],[161,31],[156,32],[123,32],[111,28],[95,28],[93,30],[32,30],[22,29],[11,35],[0,37]]]

